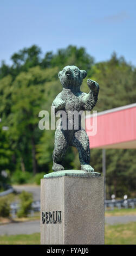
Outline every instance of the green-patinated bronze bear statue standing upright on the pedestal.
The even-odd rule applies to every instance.
[[[84,129],[81,129],[80,121],[78,129],[73,129],[68,124],[73,121],[69,119],[69,111],[91,111],[98,100],[99,84],[93,80],[87,79],[87,85],[90,89],[88,94],[80,91],[83,78],[87,72],[80,70],[77,66],[65,66],[58,76],[62,84],[63,90],[59,93],[52,106],[55,107],[55,112],[65,111],[67,125],[63,127],[61,124],[57,126],[55,132],[55,145],[53,151],[53,170],[64,170],[62,160],[69,146],[77,148],[79,151],[79,159],[81,170],[85,172],[94,172],[90,163],[89,138]]]

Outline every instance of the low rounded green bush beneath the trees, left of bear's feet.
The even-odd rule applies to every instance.
[[[24,184],[28,183],[32,173],[29,172],[22,172],[21,170],[16,170],[11,176],[11,182],[13,184]]]

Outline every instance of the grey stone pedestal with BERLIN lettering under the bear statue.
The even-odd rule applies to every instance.
[[[64,170],[41,179],[41,244],[104,243],[104,178]]]

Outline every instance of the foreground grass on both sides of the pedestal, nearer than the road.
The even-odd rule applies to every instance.
[[[136,222],[105,226],[106,245],[135,245]],[[40,245],[40,233],[0,236],[0,245]]]

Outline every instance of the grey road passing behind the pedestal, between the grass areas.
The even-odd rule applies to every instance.
[[[105,218],[107,224],[136,222],[136,216],[110,216]],[[0,235],[18,235],[40,233],[40,221],[18,222],[0,225]]]

